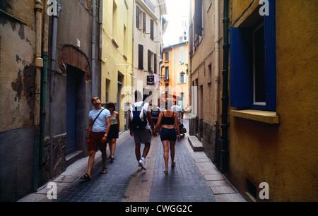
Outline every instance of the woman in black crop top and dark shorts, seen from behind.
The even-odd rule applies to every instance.
[[[160,112],[155,132],[161,127],[160,139],[163,143],[163,159],[165,160],[165,174],[168,174],[169,148],[171,167],[175,167],[175,142],[180,140],[180,129],[177,113],[171,110],[172,100],[165,101],[165,110]],[[177,130],[177,132],[176,132]],[[178,134],[178,138],[177,138]]]

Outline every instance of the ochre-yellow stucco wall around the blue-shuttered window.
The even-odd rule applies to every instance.
[[[257,9],[251,2],[231,1],[232,26]],[[269,184],[269,201],[318,200],[317,11],[317,1],[276,1],[279,124],[230,115],[228,177],[242,195],[248,179],[257,195]]]

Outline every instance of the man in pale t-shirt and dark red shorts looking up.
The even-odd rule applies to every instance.
[[[88,172],[81,176],[81,179],[92,179],[92,169],[95,162],[95,154],[98,148],[102,152],[102,174],[107,173],[106,169],[106,144],[107,134],[110,132],[110,111],[102,107],[100,98],[93,97],[90,100],[95,107],[89,113],[88,132],[86,136],[88,150]]]

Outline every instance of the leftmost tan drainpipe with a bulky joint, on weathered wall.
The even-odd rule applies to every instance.
[[[34,102],[34,161],[33,161],[33,191],[37,190],[39,174],[39,137],[40,137],[40,85],[41,68],[43,59],[41,58],[42,47],[42,11],[43,4],[40,0],[35,1],[35,102]]]

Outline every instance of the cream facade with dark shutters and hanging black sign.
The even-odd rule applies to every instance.
[[[167,13],[165,1],[136,0],[134,4],[132,87],[154,92],[158,98],[160,63],[162,63],[163,15]]]

